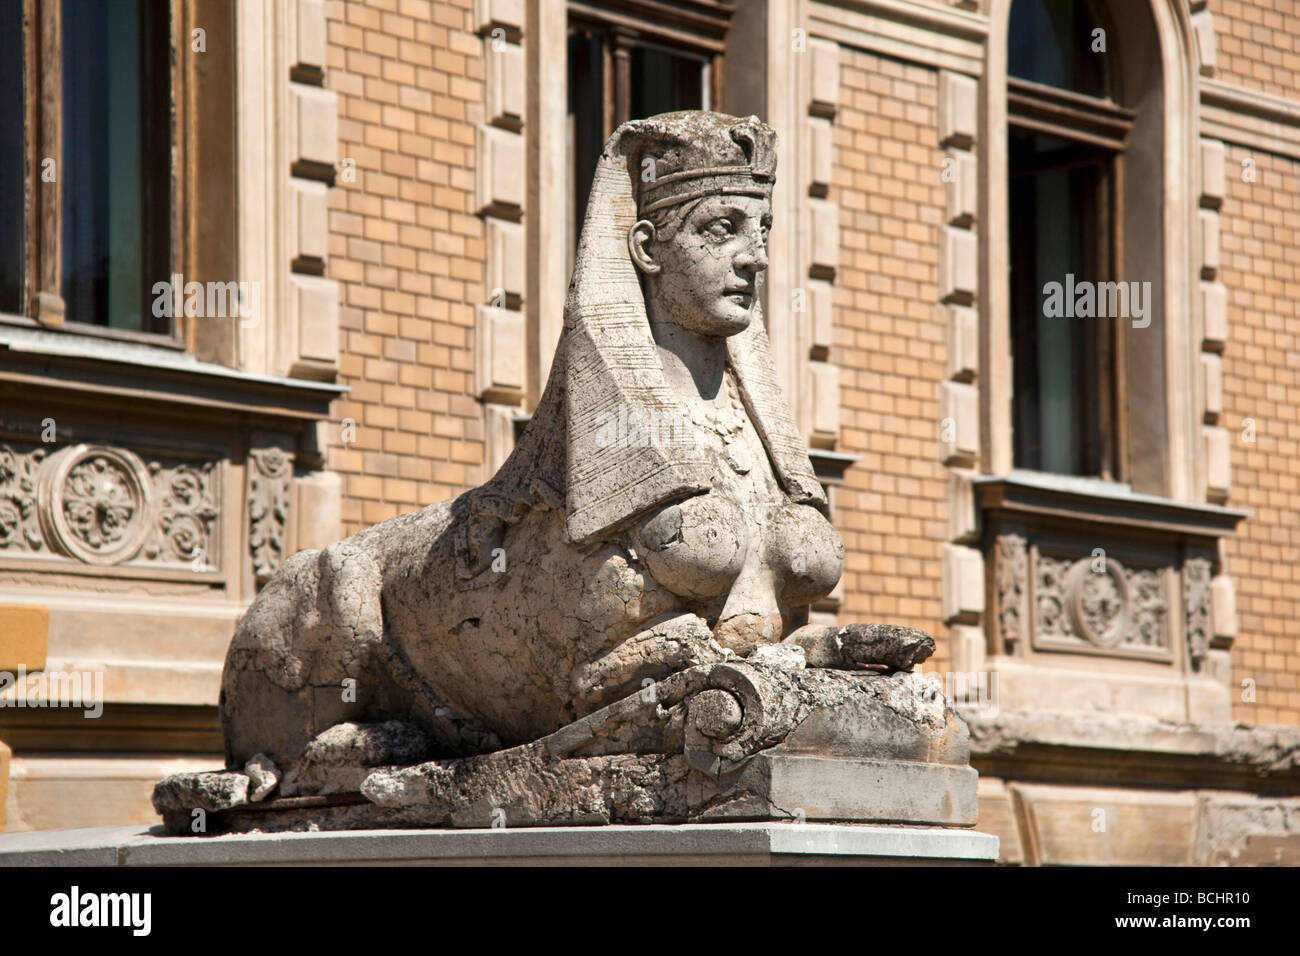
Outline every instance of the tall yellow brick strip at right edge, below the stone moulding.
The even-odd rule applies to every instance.
[[[1254,160],[1256,182],[1242,179]],[[1232,436],[1230,505],[1254,514],[1228,542],[1240,632],[1232,645],[1234,715],[1300,724],[1300,161],[1227,147],[1221,213],[1228,342],[1225,425]],[[1254,442],[1244,440],[1254,421]],[[1242,682],[1256,701],[1242,701]]]

